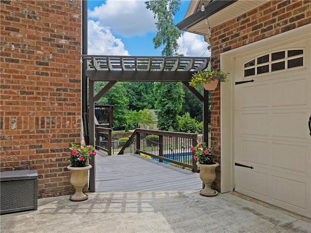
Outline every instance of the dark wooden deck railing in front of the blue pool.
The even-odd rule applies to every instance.
[[[141,154],[162,163],[189,167],[197,172],[196,161],[190,151],[196,145],[195,133],[136,129],[119,154]]]

